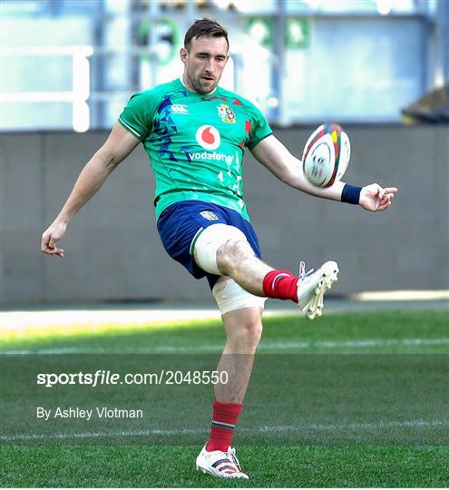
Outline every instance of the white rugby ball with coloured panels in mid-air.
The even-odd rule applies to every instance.
[[[347,133],[335,122],[322,124],[308,138],[302,154],[307,180],[317,187],[330,187],[339,181],[351,157]]]

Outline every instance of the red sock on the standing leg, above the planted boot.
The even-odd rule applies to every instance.
[[[240,412],[240,403],[213,402],[212,426],[206,451],[228,451]]]

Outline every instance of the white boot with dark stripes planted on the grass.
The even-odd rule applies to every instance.
[[[228,447],[228,451],[206,451],[206,445],[197,457],[197,470],[220,478],[249,478],[240,468],[236,450]]]

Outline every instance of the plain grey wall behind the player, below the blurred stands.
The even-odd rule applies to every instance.
[[[278,130],[298,154],[312,127]],[[246,196],[265,260],[296,270],[337,260],[333,291],[447,289],[449,126],[347,127],[353,154],[344,180],[399,188],[394,206],[369,213],[312,198],[277,181],[247,155]],[[73,219],[65,258],[39,251],[42,232],[105,132],[2,136],[4,307],[105,299],[210,299],[162,249],[154,224],[152,172],[142,147],[112,173]],[[212,302],[211,302],[212,304]]]

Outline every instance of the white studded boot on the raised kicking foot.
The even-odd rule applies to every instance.
[[[306,312],[308,319],[315,319],[323,314],[323,296],[337,280],[337,262],[329,260],[316,272],[312,272],[313,269],[306,274],[306,266],[301,262],[297,289],[298,307]]]

